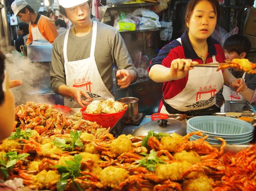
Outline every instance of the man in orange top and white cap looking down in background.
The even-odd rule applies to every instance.
[[[15,0],[11,4],[14,16],[19,16],[20,20],[28,23],[29,35],[26,44],[33,40],[46,40],[53,43],[58,36],[54,23],[47,16],[35,13],[34,9],[24,0]]]

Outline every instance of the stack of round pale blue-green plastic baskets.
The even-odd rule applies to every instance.
[[[224,116],[197,116],[187,120],[187,133],[202,131],[209,135],[210,144],[221,144],[214,137],[223,138],[227,144],[248,144],[254,136],[252,124],[231,117]],[[190,140],[197,140],[201,136],[192,135]]]

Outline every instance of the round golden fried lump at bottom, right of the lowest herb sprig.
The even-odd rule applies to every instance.
[[[100,172],[100,180],[110,187],[117,187],[122,181],[128,178],[129,173],[119,167],[108,166]]]

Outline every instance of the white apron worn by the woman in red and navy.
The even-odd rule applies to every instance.
[[[181,38],[177,39],[181,43]],[[212,63],[218,63],[215,55]],[[203,86],[202,86],[203,82]],[[215,67],[195,67],[189,71],[185,88],[171,99],[165,100],[174,109],[191,111],[205,109],[216,103],[215,94],[223,87],[223,74]],[[163,106],[161,113],[168,113]]]

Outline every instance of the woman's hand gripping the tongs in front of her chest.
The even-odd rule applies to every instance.
[[[188,71],[193,69],[193,67],[190,66],[191,64],[198,64],[198,62],[184,58],[173,60],[170,68],[170,75],[172,76],[172,79],[178,80],[184,78],[188,74]]]

